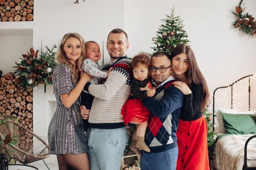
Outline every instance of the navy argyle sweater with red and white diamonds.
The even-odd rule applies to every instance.
[[[150,153],[163,152],[177,146],[177,126],[183,104],[183,93],[171,80],[156,89],[154,97],[141,100],[150,111],[145,143]]]

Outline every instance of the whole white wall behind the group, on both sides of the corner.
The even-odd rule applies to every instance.
[[[0,29],[33,29],[34,49],[40,49],[42,39],[43,50],[46,45],[58,44],[65,33],[78,32],[85,40],[95,40],[101,49],[104,47],[106,63],[109,31],[121,28],[128,33],[129,57],[139,51],[151,53],[152,38],[162,24],[161,19],[174,6],[176,15],[184,20],[184,29],[211,95],[218,86],[256,73],[256,37],[234,29],[236,18],[232,11],[239,3],[234,0],[80,0],[80,4],[73,1],[35,0],[33,22],[0,22]],[[256,2],[244,0],[244,3],[246,11],[256,17]],[[1,50],[1,63],[2,53]],[[53,114],[48,112],[54,108],[55,100],[52,86],[47,86],[46,93],[43,85],[34,89],[33,99],[34,132],[46,136],[49,117]]]

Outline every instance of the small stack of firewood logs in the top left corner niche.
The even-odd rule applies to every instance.
[[[0,0],[0,21],[32,21],[34,0]]]

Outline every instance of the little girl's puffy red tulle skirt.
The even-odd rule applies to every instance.
[[[144,107],[140,99],[128,99],[122,109],[124,124],[141,124],[148,121],[150,112]]]

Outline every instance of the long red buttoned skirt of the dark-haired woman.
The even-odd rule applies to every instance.
[[[204,119],[182,121],[177,128],[178,159],[176,170],[209,170],[208,126]]]

